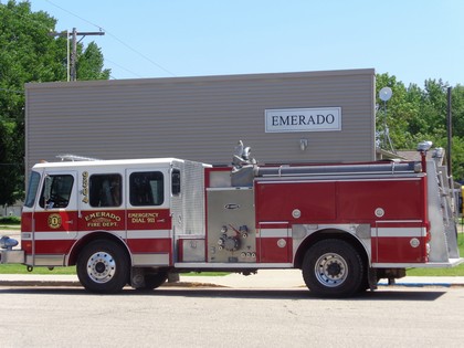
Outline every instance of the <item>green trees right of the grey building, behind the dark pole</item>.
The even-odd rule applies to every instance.
[[[377,75],[377,96],[382,87],[390,87],[387,102],[387,123],[396,149],[414,149],[422,140],[435,147],[447,147],[446,114],[449,84],[426,80],[424,87],[411,84],[408,88],[396,76]],[[383,130],[383,102],[378,98],[377,129]],[[456,180],[464,180],[464,87],[452,88],[452,170]],[[383,144],[381,144],[383,145]],[[384,147],[384,145],[383,145]],[[387,148],[388,149],[388,148]]]

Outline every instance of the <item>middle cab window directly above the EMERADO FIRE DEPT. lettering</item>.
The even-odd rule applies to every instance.
[[[118,173],[92,175],[88,180],[91,207],[119,207],[122,181]]]

